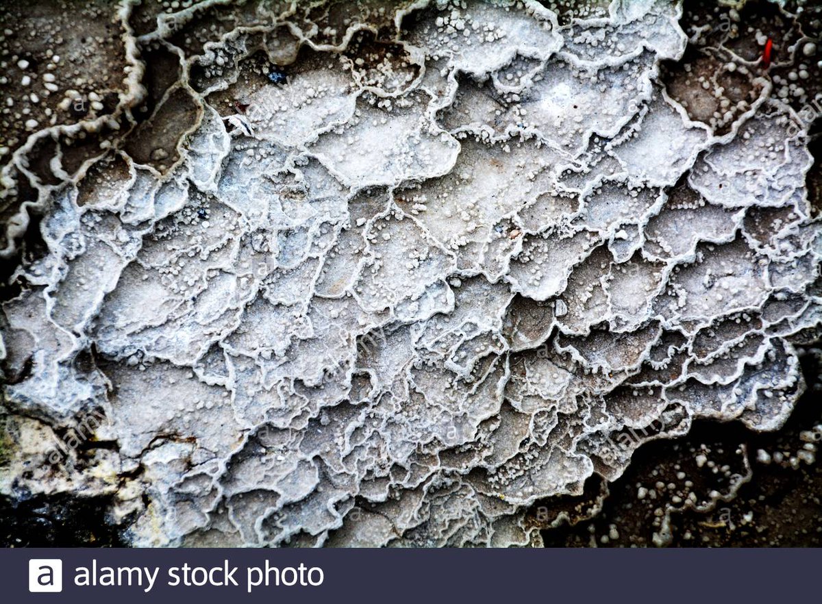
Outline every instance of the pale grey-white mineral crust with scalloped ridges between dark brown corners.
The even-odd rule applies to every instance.
[[[784,422],[822,233],[753,63],[696,121],[674,2],[298,4],[126,3],[114,117],[14,152],[4,493],[112,493],[136,545],[534,545],[645,440]]]

